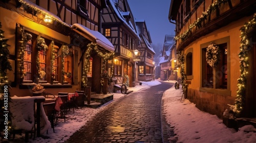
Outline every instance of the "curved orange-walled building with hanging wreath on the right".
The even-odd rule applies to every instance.
[[[170,3],[184,91],[199,109],[256,117],[255,12],[253,0]]]

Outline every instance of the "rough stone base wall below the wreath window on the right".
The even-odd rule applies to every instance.
[[[223,117],[223,112],[229,107],[227,104],[234,105],[235,101],[235,97],[190,88],[187,91],[187,99],[196,104],[199,110],[215,114],[219,118]]]

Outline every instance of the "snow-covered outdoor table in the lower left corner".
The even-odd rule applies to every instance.
[[[35,110],[36,110],[36,122],[37,122],[37,137],[40,133],[43,133],[51,128],[51,124],[45,114],[44,108],[42,108],[42,102],[45,101],[45,97],[11,97],[10,111],[12,113],[12,126],[15,130],[31,131],[35,124]],[[36,104],[36,109],[34,109]],[[40,117],[42,117],[40,120]],[[40,130],[40,123],[44,123]],[[27,135],[26,135],[27,137]],[[28,139],[28,138],[26,138]],[[26,140],[25,139],[25,140]]]

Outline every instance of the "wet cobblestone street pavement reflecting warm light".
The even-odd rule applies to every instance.
[[[161,98],[170,86],[162,83],[129,94],[95,115],[66,142],[163,142],[168,134],[162,136]]]

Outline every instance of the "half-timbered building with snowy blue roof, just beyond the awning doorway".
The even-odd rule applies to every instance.
[[[135,19],[126,0],[110,0],[108,8],[102,10],[102,34],[108,38],[115,48],[113,77],[115,83],[123,83],[129,77],[129,87],[135,86],[136,63],[133,61],[134,50],[140,40]],[[112,68],[109,62],[109,71]],[[125,81],[126,82],[126,81]]]

